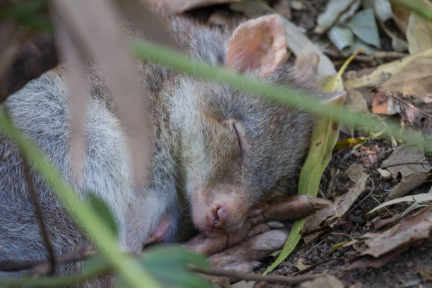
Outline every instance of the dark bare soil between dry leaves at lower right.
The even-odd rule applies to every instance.
[[[342,135],[340,138],[344,137],[346,136]],[[392,179],[383,179],[376,171],[380,167],[381,162],[388,157],[388,153],[392,150],[391,146],[385,141],[373,140],[364,143],[362,148],[351,150],[349,153],[344,153],[344,151],[335,152],[324,173],[323,179],[321,179],[320,190],[325,191],[324,193],[330,200],[332,200],[333,196],[345,193],[353,182],[344,174],[344,171],[354,162],[365,162],[365,158],[361,157],[361,155],[364,155],[364,153],[361,153],[361,150],[369,149],[377,152],[378,161],[376,164],[371,165],[371,167],[365,167],[364,172],[370,176],[369,184],[366,191],[364,191],[352,207],[354,208],[357,203],[368,196],[368,192],[372,188],[372,181],[374,191],[371,193],[371,196],[373,197],[368,196],[354,210],[351,210],[347,222],[343,225],[333,228],[308,245],[305,245],[304,241],[301,241],[287,260],[284,260],[270,274],[296,275],[299,272],[299,269],[296,268],[299,258],[303,258],[305,260],[304,263],[310,265],[334,258],[335,260],[317,265],[316,268],[308,271],[308,273],[323,272],[335,275],[336,277],[340,277],[340,280],[344,282],[346,287],[354,284],[359,285],[354,287],[432,287],[432,282],[428,282],[418,272],[420,269],[432,270],[432,248],[411,248],[395,259],[390,260],[382,268],[368,268],[367,270],[355,270],[345,273],[344,269],[347,268],[350,260],[355,258],[358,253],[352,247],[339,248],[336,251],[332,249],[332,246],[335,244],[340,244],[342,241],[350,240],[352,236],[361,236],[368,232],[370,228],[368,227],[366,213],[378,205],[378,202],[374,198],[377,200],[385,199],[385,196],[388,194],[388,188],[395,184]],[[334,177],[329,189],[330,179],[332,179],[332,174],[334,175],[337,169],[340,170],[340,173]],[[426,183],[412,191],[412,194],[427,193],[430,187],[431,184]],[[390,208],[390,212],[396,213],[407,208],[407,205],[402,204],[396,206],[395,208]],[[263,272],[265,267],[272,263],[272,260],[274,259],[269,259],[265,262],[263,268],[259,271]],[[268,287],[285,286],[281,284],[269,284]]]

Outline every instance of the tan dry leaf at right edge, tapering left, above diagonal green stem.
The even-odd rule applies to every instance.
[[[432,97],[432,57],[414,59],[402,71],[388,78],[382,86],[385,90],[403,95]]]

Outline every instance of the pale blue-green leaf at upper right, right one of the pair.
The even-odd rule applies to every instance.
[[[380,35],[372,9],[360,11],[349,22],[349,28],[360,40],[377,48],[381,47]]]

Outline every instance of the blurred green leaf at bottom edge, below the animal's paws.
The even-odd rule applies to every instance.
[[[211,287],[202,277],[188,270],[191,265],[208,268],[205,256],[178,246],[145,251],[140,262],[164,287]]]

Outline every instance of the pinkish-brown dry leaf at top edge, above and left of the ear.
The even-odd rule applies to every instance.
[[[141,0],[145,1],[152,6],[162,6],[168,10],[174,11],[175,13],[181,13],[186,10],[190,10],[198,7],[205,7],[216,4],[227,4],[232,2],[240,2],[241,0]]]

